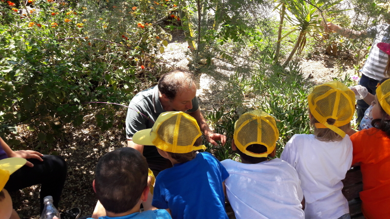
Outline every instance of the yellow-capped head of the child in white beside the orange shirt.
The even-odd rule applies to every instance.
[[[339,81],[313,88],[308,96],[310,124],[320,141],[341,141],[351,128],[355,94]]]

